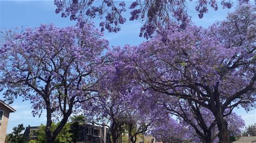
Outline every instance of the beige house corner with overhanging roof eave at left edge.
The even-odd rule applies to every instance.
[[[16,112],[16,110],[0,100],[0,142],[5,140],[9,114],[11,112]]]

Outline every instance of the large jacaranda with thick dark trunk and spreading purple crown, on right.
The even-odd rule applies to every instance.
[[[209,29],[173,24],[139,46],[125,47],[133,82],[210,110],[220,142],[228,142],[225,117],[237,106],[255,106],[254,19],[255,8],[243,5]]]

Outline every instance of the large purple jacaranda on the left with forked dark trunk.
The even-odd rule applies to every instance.
[[[97,96],[95,85],[105,74],[97,70],[104,65],[108,41],[91,24],[41,25],[9,35],[14,37],[0,49],[4,98],[30,100],[33,116],[46,110],[46,140],[53,142],[73,109]],[[53,131],[52,119],[60,121]]]

